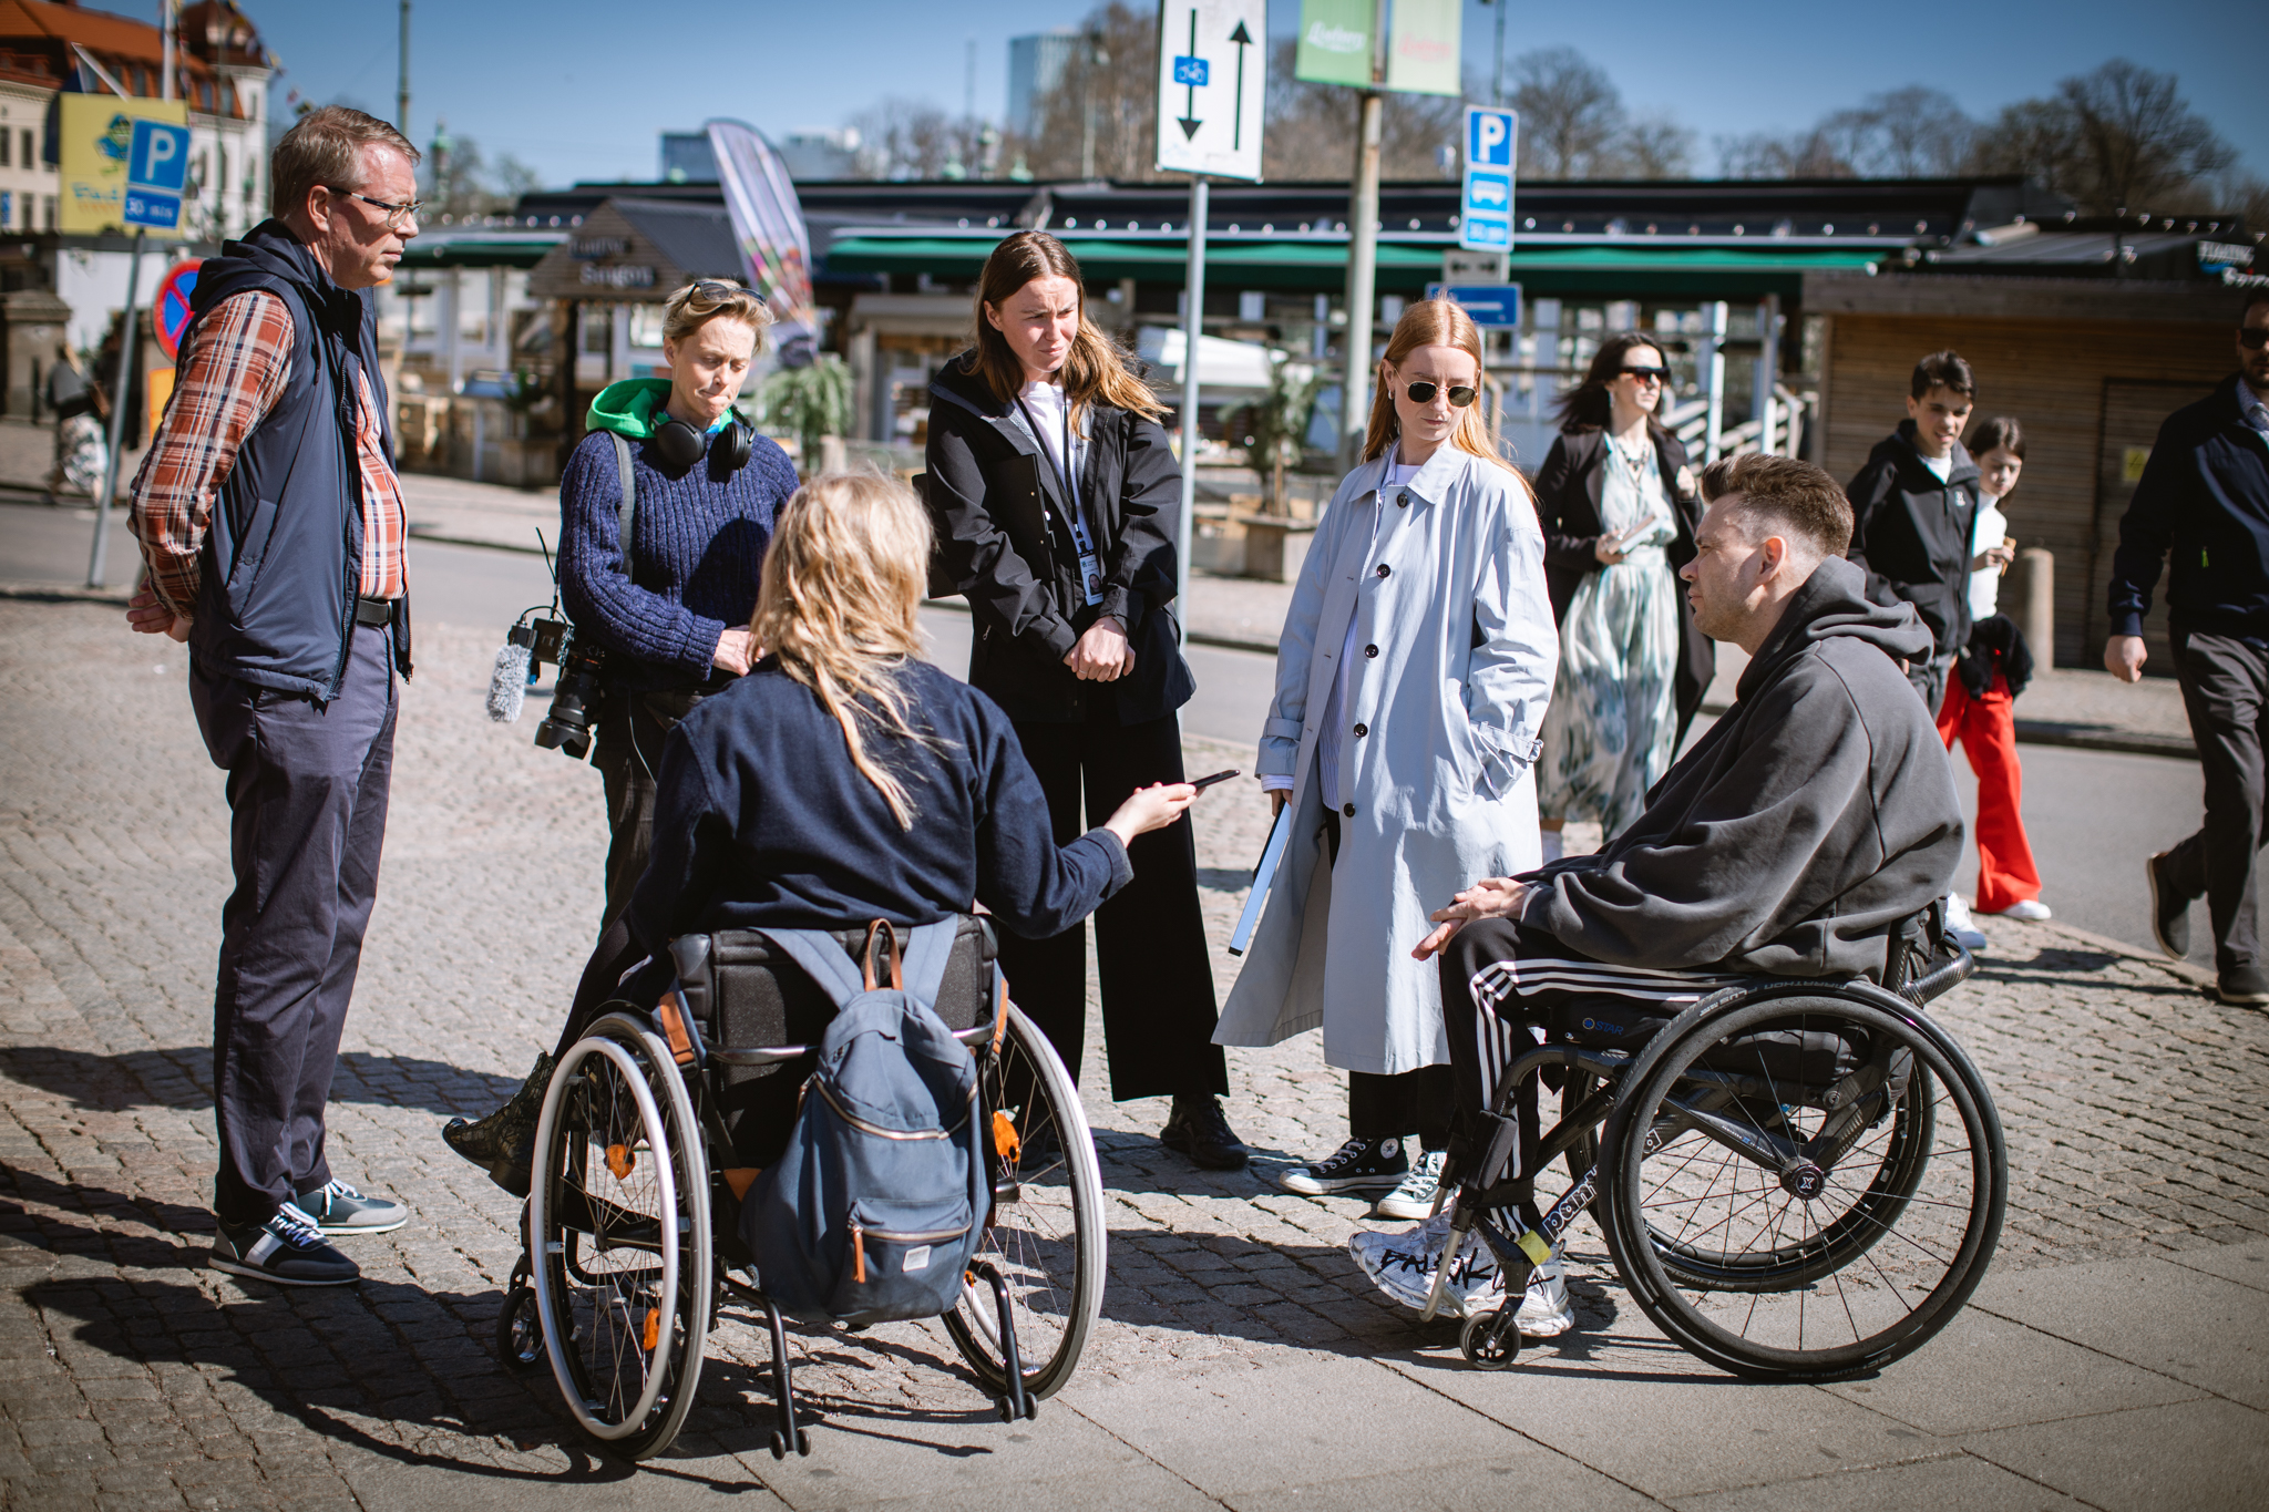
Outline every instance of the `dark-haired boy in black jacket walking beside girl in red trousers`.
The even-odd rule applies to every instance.
[[[1933,351],[1915,363],[1906,419],[1876,442],[1852,476],[1852,560],[1867,598],[1915,605],[1931,632],[1906,680],[1935,716],[1947,671],[1969,644],[1969,533],[1979,517],[1979,467],[1963,451],[1976,401],[1969,363]]]

